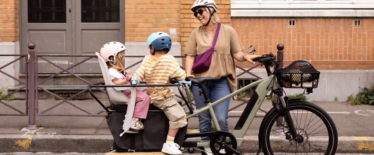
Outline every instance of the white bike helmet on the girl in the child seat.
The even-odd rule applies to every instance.
[[[108,43],[105,43],[101,47],[100,55],[105,60],[105,62],[110,61],[110,62],[113,62],[114,64],[116,64],[116,55],[119,52],[124,51],[124,50],[126,50],[126,47],[122,43],[120,43],[120,42],[108,42]],[[110,56],[113,56],[114,61],[112,61],[109,58]]]

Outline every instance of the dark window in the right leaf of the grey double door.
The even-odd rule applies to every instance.
[[[82,0],[83,23],[119,23],[119,0]]]

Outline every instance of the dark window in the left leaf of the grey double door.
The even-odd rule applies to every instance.
[[[28,0],[28,23],[66,23],[65,0]]]

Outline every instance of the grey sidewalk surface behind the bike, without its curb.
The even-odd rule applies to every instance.
[[[59,103],[59,100],[39,100],[39,113]],[[97,113],[102,110],[95,100],[73,100],[70,101],[79,107],[91,113]],[[374,106],[361,105],[351,106],[338,101],[312,101],[321,106],[329,113],[338,130],[338,136],[374,136]],[[14,100],[7,102],[22,110],[25,109],[24,100]],[[105,103],[105,102],[104,102]],[[230,108],[240,104],[240,101],[232,100]],[[229,116],[240,116],[246,104],[229,112]],[[268,111],[272,108],[269,100],[265,100],[261,109]],[[17,114],[3,104],[0,104],[0,114]],[[18,113],[19,114],[19,113]],[[45,114],[85,114],[70,104],[63,103]],[[265,113],[258,112],[257,116],[264,116]],[[230,117],[229,130],[233,130],[238,117]],[[249,126],[246,135],[256,136],[263,118],[255,118]],[[28,116],[0,116],[0,134],[23,134],[19,131],[28,124]],[[56,132],[60,135],[110,135],[104,116],[100,117],[73,117],[73,116],[37,116],[36,124],[46,127],[46,133]],[[199,127],[198,119],[188,120],[188,127],[197,129]]]

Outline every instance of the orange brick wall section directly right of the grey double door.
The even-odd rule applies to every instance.
[[[180,7],[180,0],[125,0],[125,41],[145,42],[162,31],[179,42]]]

